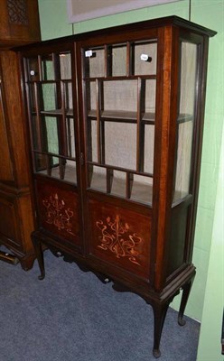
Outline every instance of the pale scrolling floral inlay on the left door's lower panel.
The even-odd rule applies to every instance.
[[[54,225],[61,231],[65,229],[70,235],[74,235],[71,231],[72,223],[70,218],[73,217],[74,212],[70,208],[65,208],[63,199],[59,199],[57,193],[50,196],[48,199],[42,199],[42,204],[46,208],[45,221],[50,225]]]

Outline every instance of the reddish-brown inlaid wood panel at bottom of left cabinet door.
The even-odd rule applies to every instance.
[[[36,194],[41,227],[56,236],[80,245],[79,197],[73,190],[57,183],[36,181]]]

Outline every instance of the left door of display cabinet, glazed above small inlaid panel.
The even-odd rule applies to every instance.
[[[60,245],[80,249],[74,62],[71,46],[41,48],[23,57],[38,227]]]

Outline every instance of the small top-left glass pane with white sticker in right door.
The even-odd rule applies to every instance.
[[[105,51],[89,49],[84,51],[84,71],[86,78],[98,78],[105,75]]]

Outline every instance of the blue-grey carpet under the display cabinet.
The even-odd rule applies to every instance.
[[[153,361],[153,312],[76,264],[44,253],[46,278],[0,262],[1,361]],[[168,310],[161,361],[195,361],[200,325]]]

